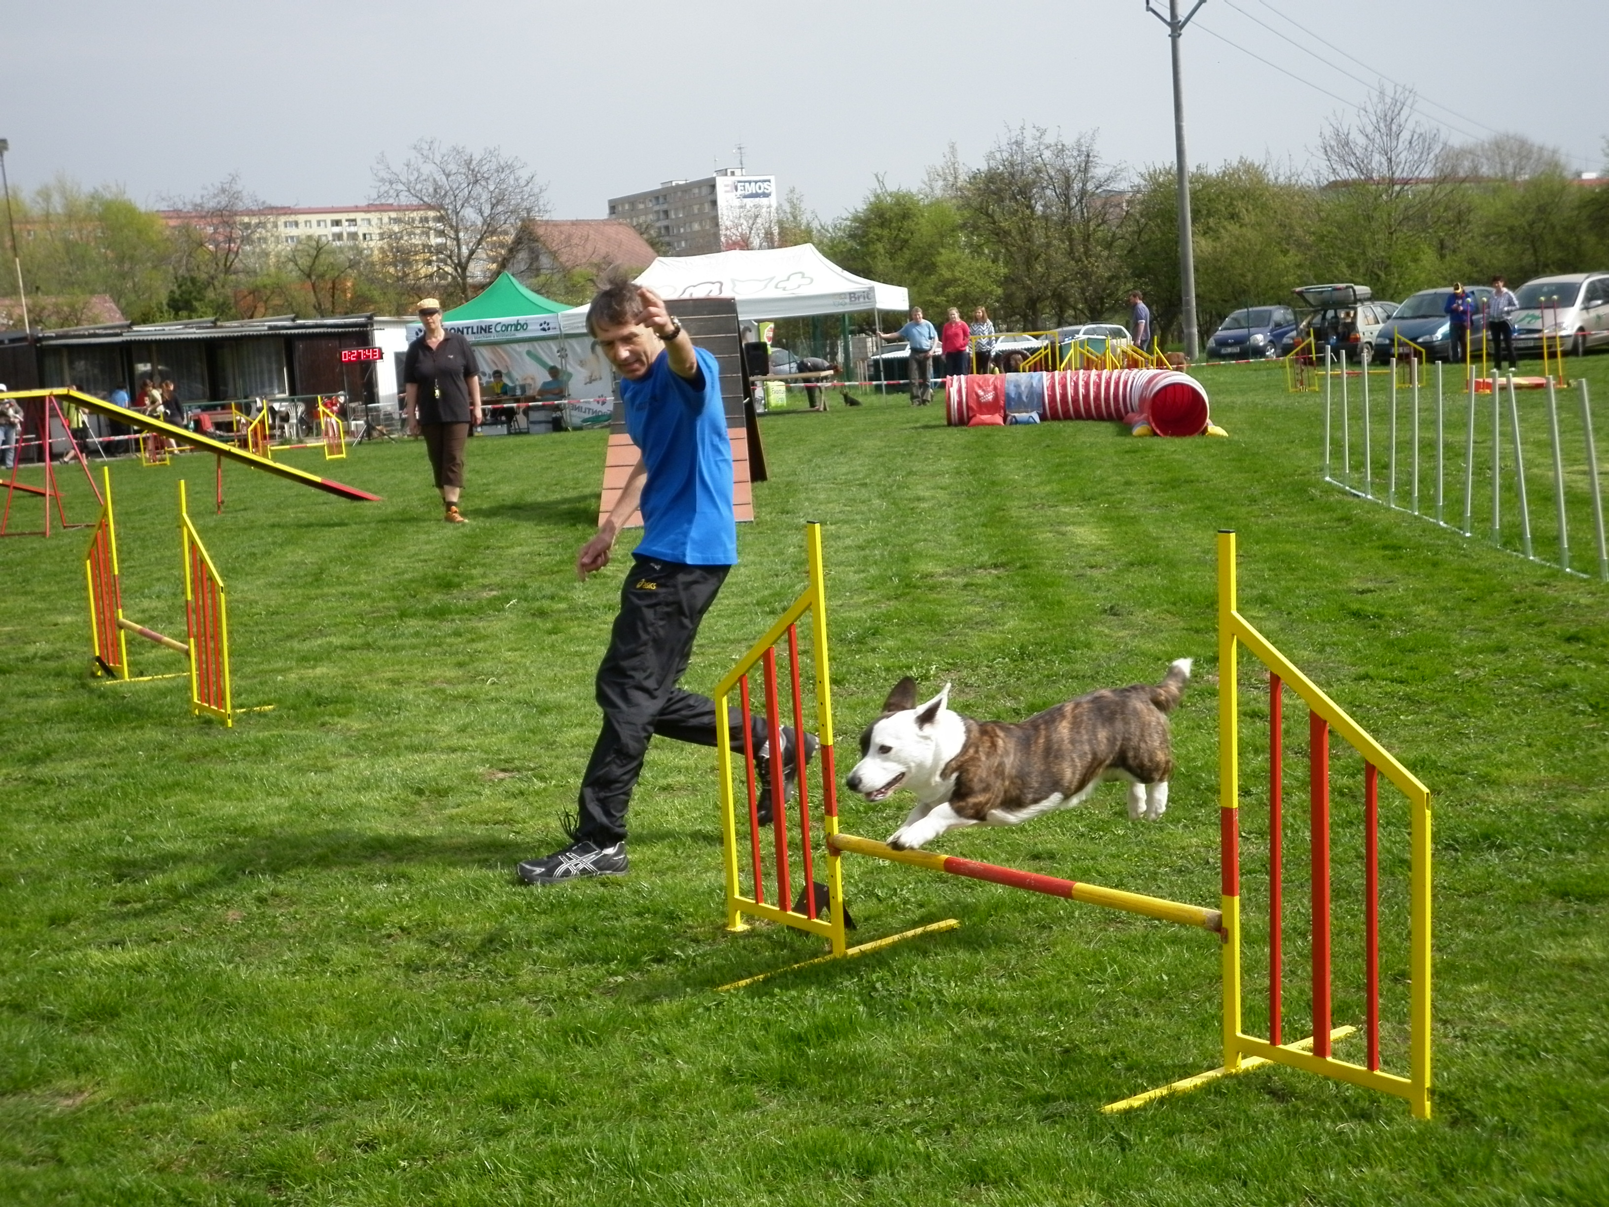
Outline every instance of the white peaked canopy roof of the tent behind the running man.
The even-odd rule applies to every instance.
[[[660,256],[637,277],[661,298],[737,298],[739,319],[809,319],[819,314],[904,311],[911,295],[846,272],[814,243],[710,256]],[[579,319],[579,323],[576,323]],[[566,311],[565,332],[586,330],[586,306]]]

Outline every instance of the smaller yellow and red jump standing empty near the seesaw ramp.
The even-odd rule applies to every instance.
[[[241,711],[267,711],[272,708],[237,710],[233,706],[228,674],[228,597],[224,579],[201,544],[201,536],[190,521],[185,504],[185,483],[179,483],[179,533],[185,571],[185,637],[177,641],[153,628],[138,624],[122,615],[122,575],[117,566],[117,523],[111,505],[111,472],[101,468],[101,513],[84,554],[84,579],[90,604],[90,644],[93,647],[93,671],[121,682],[150,679],[174,679],[172,674],[130,673],[129,637],[145,637],[154,645],[183,653],[190,663],[190,711],[196,716],[216,716],[225,726],[235,724]]]

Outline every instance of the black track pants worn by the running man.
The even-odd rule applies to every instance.
[[[581,781],[578,837],[610,847],[626,837],[626,806],[655,734],[716,744],[714,702],[676,686],[693,652],[698,623],[714,604],[730,566],[687,566],[634,557],[619,592],[619,615],[599,666],[597,702],[603,729]],[[739,710],[729,711],[732,748],[743,748]],[[755,752],[766,721],[750,716]]]

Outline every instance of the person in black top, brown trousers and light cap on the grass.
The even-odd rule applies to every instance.
[[[425,436],[436,489],[447,509],[444,518],[462,525],[463,446],[470,438],[470,422],[481,422],[481,369],[470,341],[441,325],[436,298],[420,298],[418,320],[425,323],[425,333],[407,346],[402,357],[407,431]]]

